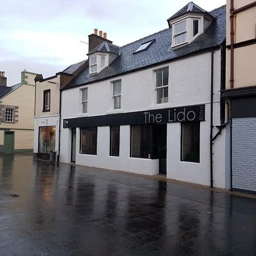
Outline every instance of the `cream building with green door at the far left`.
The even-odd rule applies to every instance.
[[[0,152],[33,152],[35,76],[22,71],[21,82],[9,87],[0,72]]]

